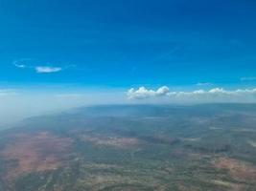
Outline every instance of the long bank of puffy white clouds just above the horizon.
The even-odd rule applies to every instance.
[[[171,92],[166,86],[157,90],[141,87],[137,90],[134,88],[128,90],[127,95],[129,99],[164,97],[174,102],[256,102],[256,89],[225,90],[223,88],[214,88],[191,92]]]

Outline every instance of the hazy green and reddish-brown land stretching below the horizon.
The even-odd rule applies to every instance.
[[[0,133],[0,191],[255,191],[256,105],[108,105]]]

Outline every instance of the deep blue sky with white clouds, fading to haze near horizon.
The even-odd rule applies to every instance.
[[[254,0],[1,0],[0,117],[256,102],[255,20]]]

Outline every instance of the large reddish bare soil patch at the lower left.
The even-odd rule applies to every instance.
[[[72,140],[58,138],[47,132],[38,134],[18,134],[1,156],[8,161],[7,178],[20,174],[54,170],[68,157]]]

